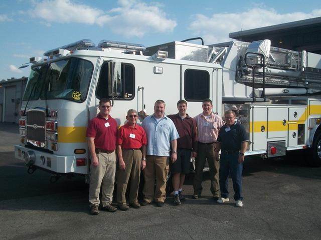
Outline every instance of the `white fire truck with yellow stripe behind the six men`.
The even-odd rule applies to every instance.
[[[253,87],[251,69],[240,60],[249,48],[247,42],[216,47],[175,41],[148,48],[106,40],[96,47],[86,42],[49,50],[40,61],[31,58],[33,70],[20,119],[22,143],[15,146],[15,156],[31,171],[38,167],[58,174],[89,173],[86,127],[102,97],[113,98],[111,116],[118,125],[125,123],[130,108],[152,114],[157,99],[165,100],[167,114],[176,113],[177,101],[185,99],[189,115],[195,116],[202,112],[202,100],[211,98],[214,112],[222,115],[233,109],[245,125],[251,143],[247,155],[279,156],[314,145],[313,154],[319,154],[315,163],[321,164],[321,99],[311,95],[321,90],[319,55],[303,51],[313,58],[307,65],[297,62],[303,53],[281,50],[295,60],[286,69],[268,65],[273,55],[267,51],[267,87],[262,86],[262,67],[255,68]],[[248,59],[253,64],[262,60],[255,54]]]

